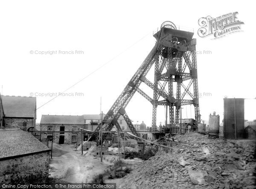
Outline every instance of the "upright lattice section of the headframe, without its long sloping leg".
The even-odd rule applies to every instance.
[[[197,62],[195,47],[193,48],[181,48],[181,42],[178,39],[170,41],[169,46],[165,46],[163,49],[167,54],[160,54],[159,62],[155,63],[154,68],[154,84],[151,83],[145,77],[143,82],[154,90],[153,100],[149,96],[144,97],[150,99],[153,104],[152,111],[152,127],[153,131],[156,127],[157,117],[157,105],[169,106],[169,119],[170,124],[179,124],[180,120],[180,108],[182,105],[193,104],[195,106],[195,120],[197,123],[200,122],[199,102],[198,102],[198,80],[197,80]],[[173,49],[176,49],[176,53],[173,53]],[[179,49],[179,50],[177,50]],[[181,49],[186,49],[182,51]],[[167,72],[163,73],[164,68]],[[186,68],[189,69],[189,73],[186,73]],[[184,81],[189,81],[189,84],[185,86]],[[161,83],[163,82],[163,83]],[[177,83],[176,96],[174,96],[173,83]],[[158,85],[157,85],[158,83]],[[166,84],[168,83],[168,93],[165,90]],[[189,89],[193,84],[192,94]],[[160,86],[160,88],[158,87]],[[184,88],[184,92],[181,94],[181,87]],[[141,93],[141,92],[140,92]],[[189,94],[191,99],[186,99],[186,93]],[[142,94],[142,93],[141,93]],[[159,100],[163,97],[164,100]],[[174,116],[175,107],[175,116]]]

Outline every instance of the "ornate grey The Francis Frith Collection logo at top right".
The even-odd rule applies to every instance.
[[[199,37],[212,36],[212,39],[218,39],[242,31],[241,24],[244,23],[238,20],[237,14],[238,12],[230,12],[216,18],[211,16],[201,17],[198,20],[198,24],[201,26],[198,29]]]

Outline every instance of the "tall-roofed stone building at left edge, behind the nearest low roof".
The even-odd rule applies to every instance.
[[[36,98],[26,96],[2,96],[4,128],[35,128]]]

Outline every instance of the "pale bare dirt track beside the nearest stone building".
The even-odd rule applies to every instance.
[[[103,173],[111,165],[108,161],[88,155],[81,155],[72,145],[53,144],[49,178],[61,179],[70,183],[88,183],[95,175]]]

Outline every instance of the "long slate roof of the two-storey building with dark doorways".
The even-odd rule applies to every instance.
[[[42,115],[40,124],[84,124],[84,116]]]

